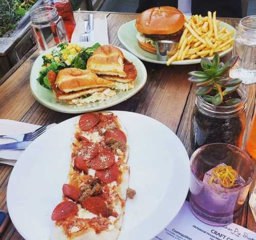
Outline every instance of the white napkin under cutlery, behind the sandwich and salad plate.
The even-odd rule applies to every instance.
[[[71,42],[80,41],[80,34],[84,33],[83,21],[84,20],[82,19],[80,10],[78,10],[77,17],[76,17],[76,27],[72,34]],[[108,23],[106,21],[105,14],[93,15],[93,29],[94,29],[95,42],[99,42],[102,45],[109,44]]]

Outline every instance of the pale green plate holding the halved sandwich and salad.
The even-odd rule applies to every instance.
[[[77,44],[88,47],[88,46],[92,46],[94,43],[79,42]],[[39,71],[43,63],[42,56],[46,55],[47,53],[50,53],[53,49],[54,47],[52,49],[45,51],[43,54],[37,57],[37,59],[33,64],[31,74],[30,74],[30,88],[35,99],[42,105],[52,110],[55,110],[58,112],[65,112],[65,113],[82,113],[82,112],[98,111],[98,110],[119,104],[131,98],[146,83],[147,73],[146,73],[146,68],[144,64],[133,54],[123,49],[120,49],[123,52],[124,57],[128,59],[130,62],[133,62],[133,64],[137,69],[137,78],[135,79],[135,87],[133,89],[130,89],[129,91],[125,91],[125,92],[119,91],[115,96],[107,100],[85,104],[83,106],[63,105],[60,103],[56,103],[53,101],[54,99],[53,92],[47,88],[42,87],[36,80],[39,77]]]

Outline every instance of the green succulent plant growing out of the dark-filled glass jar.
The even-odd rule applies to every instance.
[[[226,78],[229,69],[236,63],[238,57],[230,58],[226,63],[220,62],[220,56],[215,54],[214,59],[210,61],[207,58],[202,58],[201,67],[203,71],[190,71],[191,77],[188,80],[197,84],[198,96],[215,106],[223,103],[225,106],[231,106],[239,103],[238,98],[230,98],[224,101],[224,96],[236,91],[242,83],[241,79]]]

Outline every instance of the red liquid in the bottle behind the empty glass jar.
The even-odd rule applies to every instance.
[[[57,9],[58,15],[61,16],[64,21],[67,36],[70,41],[76,26],[71,3],[69,0],[54,1],[54,6]]]

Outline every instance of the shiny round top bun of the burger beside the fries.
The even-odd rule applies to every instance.
[[[174,7],[147,9],[136,20],[136,29],[144,34],[172,34],[183,28],[185,17]]]

